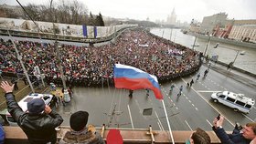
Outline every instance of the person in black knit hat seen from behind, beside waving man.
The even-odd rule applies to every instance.
[[[86,127],[89,113],[87,111],[77,111],[69,118],[70,130],[59,140],[59,144],[104,144],[99,132],[94,126]]]

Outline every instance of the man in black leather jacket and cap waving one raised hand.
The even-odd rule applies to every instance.
[[[62,122],[61,116],[45,104],[41,98],[34,98],[27,102],[28,112],[24,112],[13,95],[14,85],[3,81],[1,87],[5,91],[6,105],[17,125],[26,133],[29,143],[47,144],[56,143],[57,131]]]

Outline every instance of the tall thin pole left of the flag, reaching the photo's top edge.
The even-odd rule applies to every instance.
[[[53,0],[50,1],[51,13],[52,13],[52,1]],[[52,20],[52,28],[53,28],[54,38],[55,38],[54,46],[55,46],[56,53],[57,53],[56,56],[57,56],[57,59],[58,59],[58,62],[59,62],[60,77],[61,77],[63,88],[64,88],[64,96],[63,96],[63,98],[64,98],[65,102],[69,102],[70,101],[70,97],[69,97],[68,88],[66,86],[66,78],[64,76],[63,67],[61,65],[61,58],[60,58],[60,52],[59,52],[59,48],[61,46],[58,46],[58,41],[57,41],[57,36],[56,36],[56,29],[55,29],[55,25],[54,25],[54,21],[53,20]]]

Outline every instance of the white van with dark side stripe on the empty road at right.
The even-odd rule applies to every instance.
[[[243,94],[235,94],[229,91],[217,92],[211,95],[214,102],[222,103],[235,111],[249,113],[255,104],[255,100],[247,98]]]

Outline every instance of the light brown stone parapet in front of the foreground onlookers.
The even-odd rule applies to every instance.
[[[4,127],[5,129],[5,144],[28,144],[27,136],[25,133],[20,129],[19,127]],[[60,139],[63,134],[65,134],[65,131],[67,131],[69,127],[61,126],[58,131],[58,139]],[[118,129],[118,128],[114,128]],[[108,132],[110,128],[108,129],[96,129],[98,132],[102,132],[102,138],[106,140]],[[141,144],[141,143],[152,143],[152,138],[149,129],[120,129],[120,133],[123,138],[124,144]],[[170,134],[168,131],[160,131],[160,130],[154,130],[152,131],[155,144],[171,144]],[[215,135],[213,131],[207,131],[211,143],[220,144],[220,140]],[[188,139],[192,131],[172,131],[174,140],[176,144],[184,144],[186,139]]]

